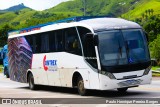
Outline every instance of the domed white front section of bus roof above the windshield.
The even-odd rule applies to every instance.
[[[94,32],[110,29],[141,28],[139,24],[121,18],[94,18],[82,20],[80,23],[91,26]]]

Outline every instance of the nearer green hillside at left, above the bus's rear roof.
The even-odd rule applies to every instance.
[[[74,12],[50,12],[50,11],[35,11],[29,8],[22,9],[16,12],[5,12],[0,14],[0,29],[8,24],[13,29],[22,29],[25,27],[52,22],[67,17],[79,16]]]

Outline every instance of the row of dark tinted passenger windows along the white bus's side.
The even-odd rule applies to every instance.
[[[25,37],[33,53],[68,52],[82,55],[76,28],[34,34]]]

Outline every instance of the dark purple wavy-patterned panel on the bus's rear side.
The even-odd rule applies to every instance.
[[[8,61],[10,79],[27,82],[27,70],[31,67],[32,50],[24,37],[8,40]]]

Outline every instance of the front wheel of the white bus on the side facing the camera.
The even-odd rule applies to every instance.
[[[83,82],[82,77],[79,77],[79,78],[78,78],[77,87],[78,87],[78,93],[79,93],[81,96],[86,95],[87,90],[84,88],[84,82]]]

